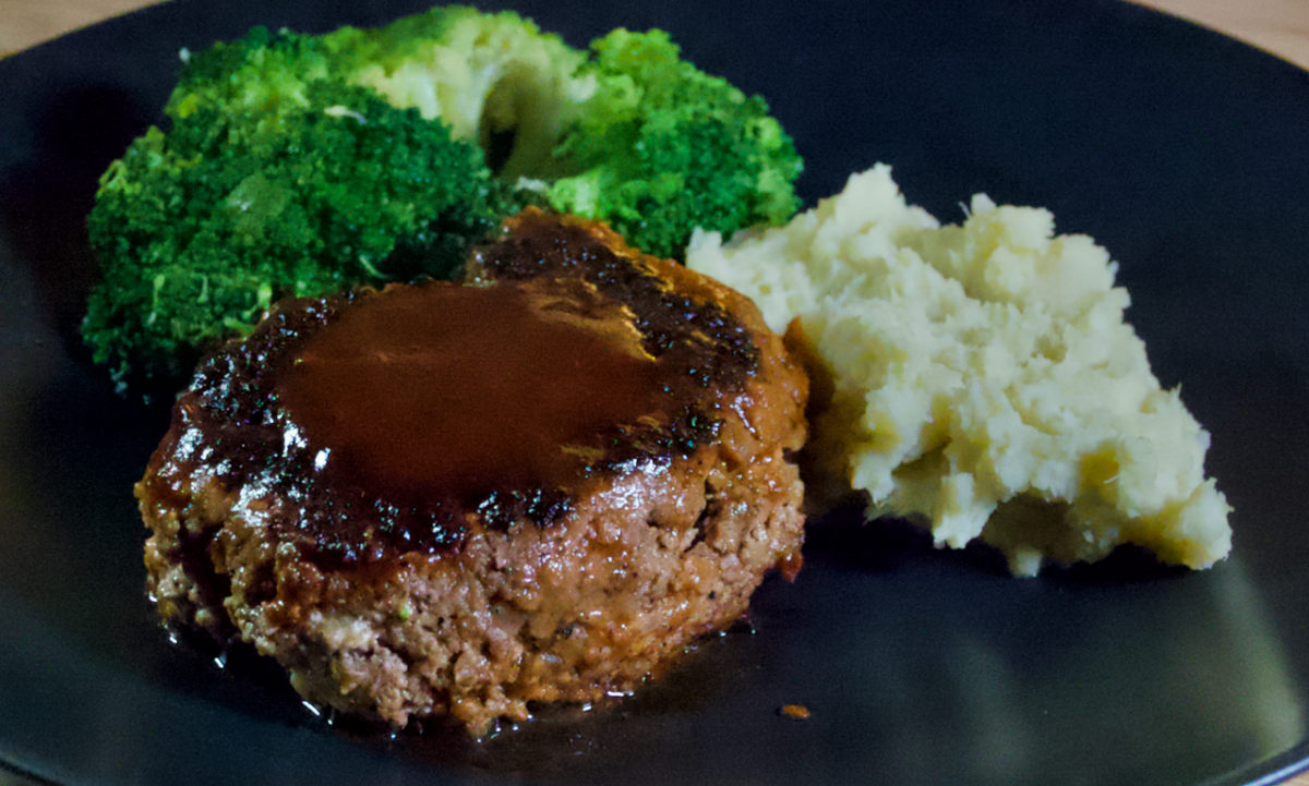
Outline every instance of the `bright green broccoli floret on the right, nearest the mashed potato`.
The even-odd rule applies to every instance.
[[[666,33],[614,30],[577,73],[594,93],[555,154],[559,211],[607,221],[628,242],[681,258],[696,228],[730,234],[797,208],[800,156],[759,97],[682,60]]]

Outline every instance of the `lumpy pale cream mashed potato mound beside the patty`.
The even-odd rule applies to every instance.
[[[1190,568],[1230,551],[1208,433],[1151,371],[1117,264],[1047,211],[978,195],[941,226],[878,165],[784,228],[698,233],[686,259],[813,356],[813,454],[872,514],[980,536],[1022,575],[1121,543]]]

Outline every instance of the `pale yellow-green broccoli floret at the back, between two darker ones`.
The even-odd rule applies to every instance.
[[[279,112],[306,86],[334,80],[373,88],[391,105],[441,119],[486,150],[508,140],[493,169],[512,179],[550,167],[560,129],[583,98],[572,78],[585,55],[513,12],[439,7],[376,29],[323,35],[255,27],[240,41],[186,52],[166,114],[202,106]]]

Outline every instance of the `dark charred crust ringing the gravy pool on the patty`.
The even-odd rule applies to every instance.
[[[605,437],[603,453],[586,462],[577,480],[666,466],[715,439],[721,417],[713,394],[740,391],[759,365],[750,331],[717,302],[672,289],[645,258],[607,230],[597,237],[594,228],[539,212],[511,226],[512,231],[476,252],[476,282],[576,277],[601,297],[624,303],[641,347],[660,364],[662,391],[672,403],[664,421],[617,424]],[[317,472],[319,446],[288,437],[296,432],[296,420],[280,400],[279,379],[300,360],[300,349],[342,311],[378,297],[387,297],[387,290],[285,302],[249,339],[206,358],[177,409],[182,455],[174,460],[204,462],[229,488],[260,485],[297,501],[302,515],[281,535],[323,566],[456,549],[467,536],[470,514],[479,526],[499,528],[559,521],[577,484],[488,488],[475,498],[414,502]],[[187,455],[186,442],[203,443],[204,455]]]

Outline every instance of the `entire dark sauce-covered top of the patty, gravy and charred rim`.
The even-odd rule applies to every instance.
[[[590,483],[713,439],[759,356],[712,290],[674,290],[580,225],[512,226],[478,254],[480,285],[275,309],[202,365],[151,483],[266,489],[300,506],[270,517],[285,541],[346,566],[548,526]]]

